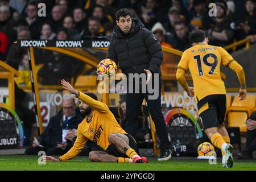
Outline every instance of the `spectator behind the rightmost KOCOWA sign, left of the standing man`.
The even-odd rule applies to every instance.
[[[102,27],[100,19],[94,16],[90,17],[88,20],[88,32],[85,32],[85,34],[82,37],[86,38],[86,37],[104,36],[104,35],[105,35],[104,28]]]

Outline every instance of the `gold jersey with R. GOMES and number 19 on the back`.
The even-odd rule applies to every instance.
[[[225,67],[233,57],[222,47],[197,44],[183,52],[178,68],[191,72],[197,101],[212,94],[226,94],[220,65]]]

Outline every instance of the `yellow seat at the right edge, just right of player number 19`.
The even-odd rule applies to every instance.
[[[253,113],[255,102],[255,95],[247,95],[246,100],[242,101],[240,101],[240,97],[236,96],[226,113],[228,126],[240,127],[240,132],[245,133],[247,131],[245,121]]]

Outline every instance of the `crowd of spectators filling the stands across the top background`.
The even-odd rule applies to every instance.
[[[46,17],[38,16],[38,3],[46,4]],[[217,4],[216,17],[209,16],[209,3]],[[204,30],[214,46],[227,46],[234,39],[249,38],[255,42],[256,9],[255,0],[1,0],[0,1],[0,60],[15,69],[24,70],[26,49],[13,43],[16,39],[58,39],[79,40],[94,36],[112,36],[115,27],[115,13],[122,7],[133,12],[148,30],[160,40],[162,46],[184,51],[190,44],[188,33],[193,29]],[[60,55],[39,53],[43,64],[39,75],[43,85],[54,85],[63,77],[65,67],[69,68],[69,80],[81,68],[82,63],[60,65]],[[72,71],[71,71],[72,70]],[[47,72],[49,71],[49,72]],[[47,74],[46,74],[47,72]],[[51,74],[50,74],[51,73]],[[23,83],[26,85],[26,83]]]

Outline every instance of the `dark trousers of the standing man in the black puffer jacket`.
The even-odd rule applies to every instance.
[[[142,90],[140,90],[139,93],[129,93],[129,84],[127,86],[127,94],[126,94],[126,127],[125,131],[133,136],[136,137],[136,133],[138,130],[138,123],[137,123],[137,116],[139,114],[139,111],[141,110],[141,105],[143,102],[143,99],[145,98],[147,102],[148,110],[150,111],[152,120],[155,123],[156,128],[156,134],[158,135],[158,138],[160,140],[160,149],[169,148],[169,140],[168,140],[168,134],[167,134],[167,127],[166,122],[164,121],[163,114],[162,114],[162,107],[161,107],[161,89],[162,89],[162,80],[160,77],[158,78],[152,78],[152,82],[154,85],[154,81],[158,79],[159,84],[158,86],[158,97],[154,100],[150,99],[148,96],[152,96],[153,94],[148,93],[148,90],[146,90],[146,93],[142,93]],[[128,82],[128,81],[127,81]],[[145,84],[144,82],[135,83],[139,84]],[[134,85],[133,85],[134,86]],[[134,87],[135,88],[135,87]],[[133,89],[134,91],[134,89]]]

